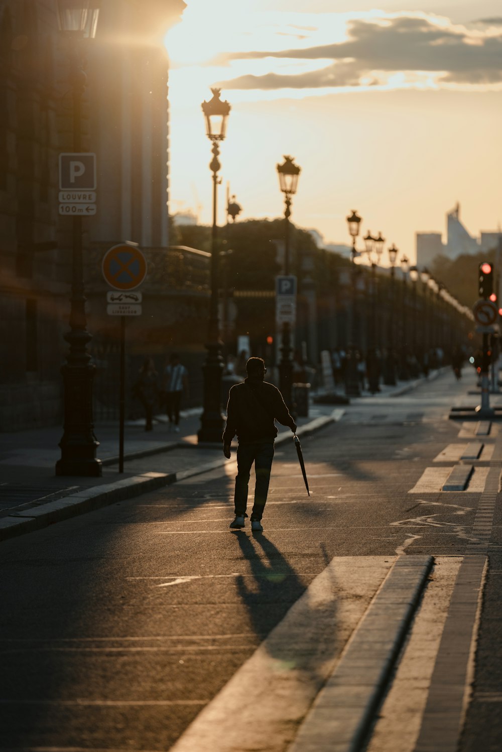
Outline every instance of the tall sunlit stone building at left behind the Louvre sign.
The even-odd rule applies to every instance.
[[[83,50],[82,150],[96,153],[87,260],[123,240],[169,247],[168,59],[182,0],[103,0]],[[71,86],[56,0],[0,2],[0,430],[61,417],[71,219],[58,214],[58,155],[72,150]],[[87,273],[87,270],[86,270]],[[90,316],[93,290],[90,290]]]

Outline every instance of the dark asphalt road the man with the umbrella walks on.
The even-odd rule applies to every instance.
[[[467,387],[446,373],[351,405],[303,440],[310,498],[293,442],[277,447],[263,534],[228,527],[229,462],[2,544],[0,748],[167,750],[331,559],[464,556],[481,476],[474,493],[409,492],[458,444],[447,414],[473,401]],[[136,464],[156,470],[155,457]],[[497,515],[462,752],[500,749]],[[354,602],[376,587],[368,578]],[[271,659],[291,660],[288,645]]]

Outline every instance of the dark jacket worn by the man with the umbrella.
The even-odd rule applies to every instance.
[[[237,434],[242,444],[273,441],[277,435],[274,418],[283,426],[295,429],[295,423],[279,390],[268,381],[247,378],[230,390],[224,444]]]

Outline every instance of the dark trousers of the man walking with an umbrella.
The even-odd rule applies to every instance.
[[[270,469],[274,458],[273,441],[239,444],[237,449],[237,476],[234,503],[237,515],[244,515],[248,506],[248,484],[254,462],[256,486],[251,520],[261,520],[266,496],[269,493]]]

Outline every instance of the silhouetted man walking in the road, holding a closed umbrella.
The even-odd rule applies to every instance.
[[[289,414],[282,395],[273,384],[263,381],[265,362],[261,358],[249,358],[246,363],[248,378],[236,384],[229,394],[227,427],[223,435],[223,451],[230,458],[230,443],[237,434],[237,476],[234,505],[236,518],[230,527],[245,526],[248,505],[248,483],[251,465],[254,462],[256,486],[251,512],[251,529],[262,531],[261,518],[269,491],[270,469],[274,456],[274,439],[277,435],[274,420],[289,426],[296,432],[297,426]]]

